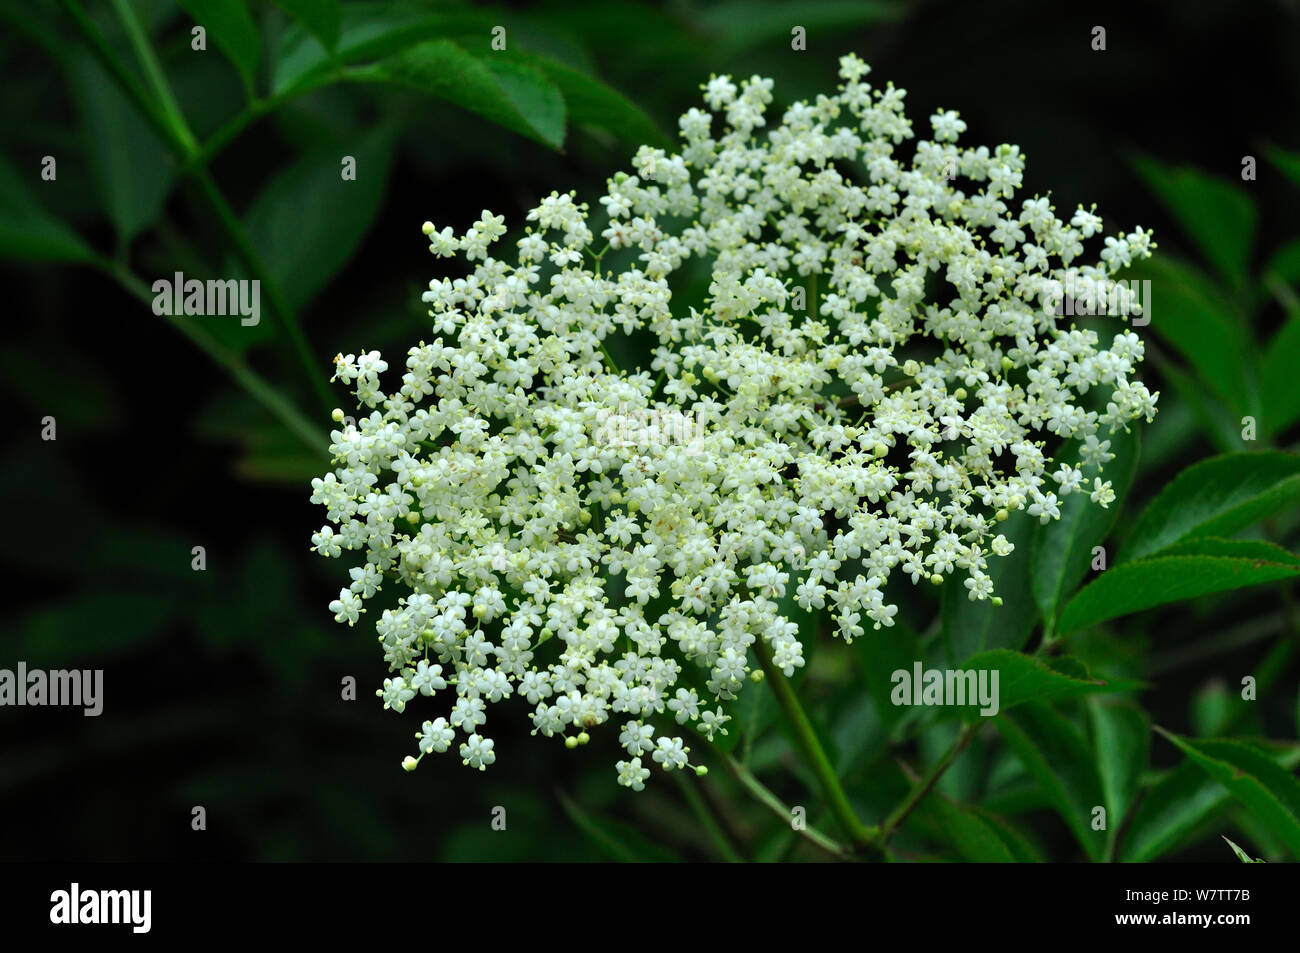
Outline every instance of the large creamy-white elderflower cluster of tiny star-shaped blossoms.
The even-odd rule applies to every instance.
[[[1104,346],[1040,302],[1066,269],[1109,281],[1150,234],[1083,263],[1100,218],[1015,200],[1015,146],[958,146],[966,124],[940,112],[900,152],[905,92],[840,66],[836,95],[779,122],[770,79],[710,79],[680,152],[642,147],[598,218],[551,194],[514,261],[493,255],[500,216],[426,224],[434,255],[469,263],[429,283],[433,342],[396,390],[378,352],[335,359],[363,416],[312,481],[329,519],[312,542],[364,555],[337,620],[396,590],[374,620],[385,707],[450,696],[408,770],[447,750],[491,764],[488,709],[514,696],[569,746],[614,722],[618,780],[640,790],[653,764],[690,767],[684,728],[727,731],[751,653],[803,664],[796,606],[853,640],[893,624],[894,577],[997,601],[1000,520],[1113,499],[1108,436],[1156,411],[1143,343],[1121,324]],[[702,309],[675,300],[676,273],[707,282]],[[650,343],[618,369],[611,339]],[[629,411],[707,426],[689,446],[602,438]],[[1067,439],[1078,464],[1053,460]]]

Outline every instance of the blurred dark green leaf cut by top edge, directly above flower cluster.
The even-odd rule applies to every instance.
[[[837,39],[846,30],[902,17],[906,4],[880,0],[802,0],[798,7],[776,0],[725,0],[692,9],[690,18],[710,34],[727,53],[751,49],[763,43],[783,43],[789,49],[792,30],[807,30],[810,49],[818,42]]]

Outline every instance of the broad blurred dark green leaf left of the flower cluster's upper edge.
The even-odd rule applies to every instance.
[[[384,202],[393,135],[377,130],[347,148],[356,178],[342,178],[342,147],[278,172],[248,208],[248,234],[294,308],[320,291],[360,246]]]

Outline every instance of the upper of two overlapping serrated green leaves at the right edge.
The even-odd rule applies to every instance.
[[[1134,525],[1119,562],[1141,559],[1199,536],[1231,536],[1300,499],[1300,456],[1225,454],[1195,463]]]

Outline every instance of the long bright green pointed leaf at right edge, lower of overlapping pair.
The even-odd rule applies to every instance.
[[[1061,632],[1075,632],[1152,606],[1300,576],[1300,563],[1254,556],[1161,555],[1106,569],[1070,599]]]

